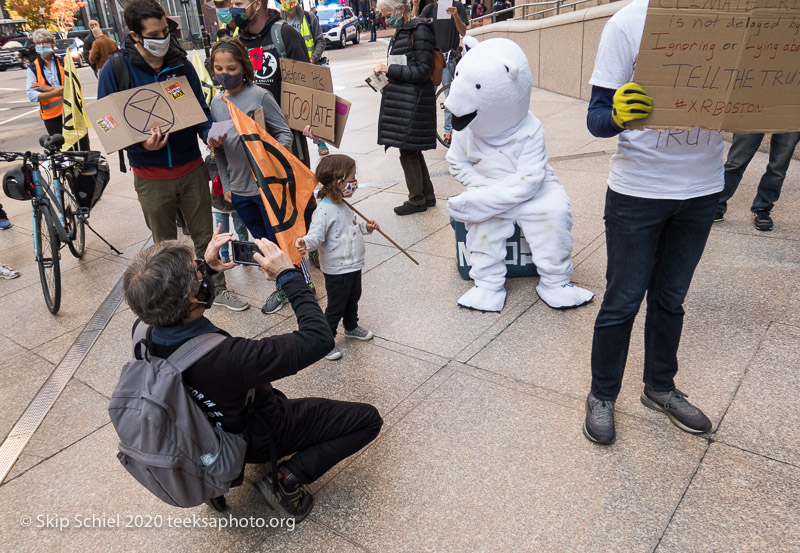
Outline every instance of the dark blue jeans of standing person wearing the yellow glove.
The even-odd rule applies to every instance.
[[[718,203],[719,193],[652,200],[606,192],[606,293],[592,341],[592,394],[597,399],[617,399],[645,293],[644,383],[660,392],[675,388],[683,300]]]

